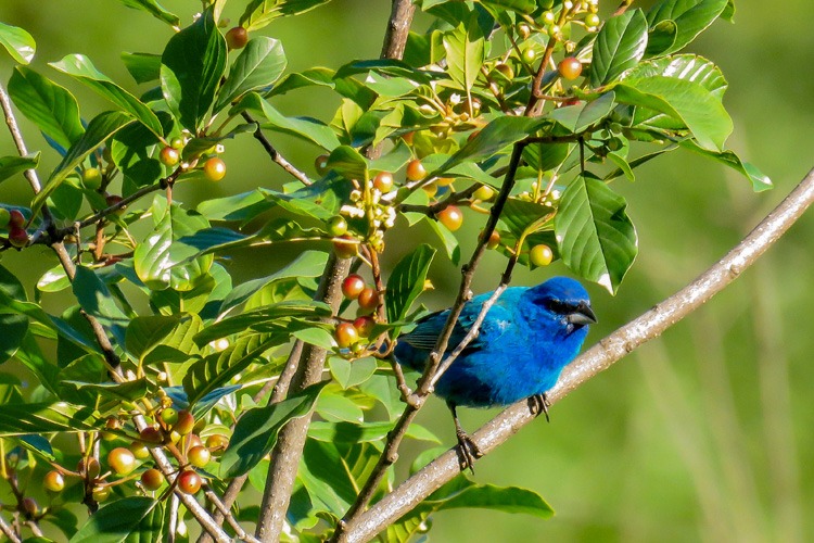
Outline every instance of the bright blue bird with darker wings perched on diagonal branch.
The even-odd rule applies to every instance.
[[[463,305],[445,356],[463,340],[491,296],[492,292],[481,294]],[[448,316],[449,310],[428,315],[400,336],[394,350],[396,361],[422,371]],[[435,383],[435,394],[453,412],[465,467],[472,469],[481,452],[461,427],[456,407],[492,407],[530,397],[548,417],[546,391],[580,352],[594,323],[588,293],[567,277],[531,288],[511,287],[500,294],[478,336]]]

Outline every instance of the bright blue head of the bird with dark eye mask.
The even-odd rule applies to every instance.
[[[574,279],[554,277],[529,289],[525,296],[543,318],[561,323],[569,332],[597,321],[588,292]]]

